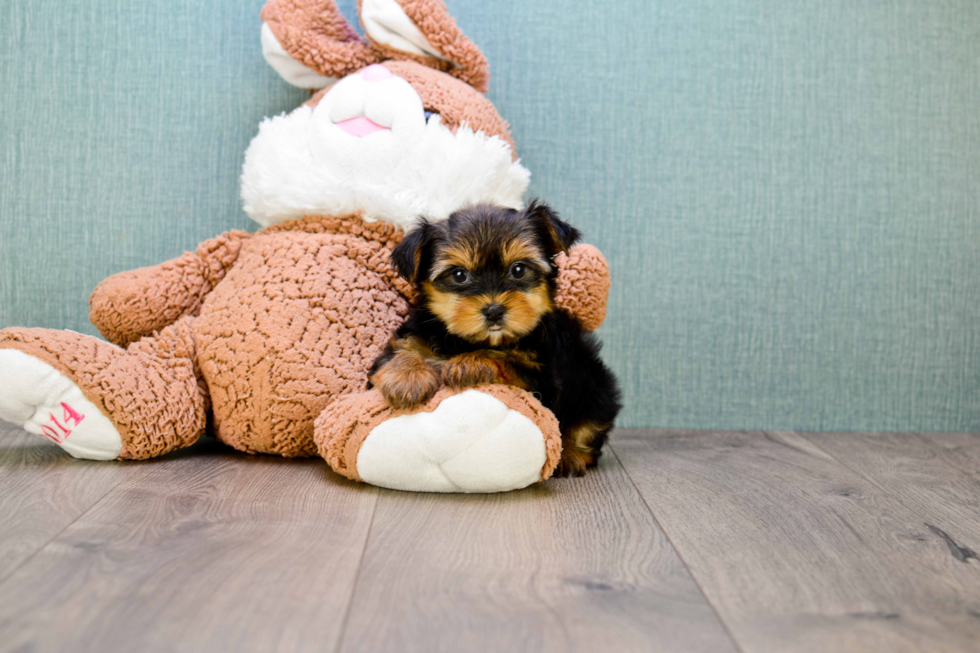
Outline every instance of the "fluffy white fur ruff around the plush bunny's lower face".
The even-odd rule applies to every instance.
[[[331,152],[315,123],[314,111],[299,107],[264,120],[249,145],[242,200],[263,227],[304,215],[361,213],[365,221],[407,230],[420,216],[442,220],[477,202],[523,206],[530,173],[496,136],[467,125],[453,134],[433,116],[421,138],[372,134],[364,139],[375,139],[372,146],[343,142]],[[353,138],[331,133],[328,140]]]

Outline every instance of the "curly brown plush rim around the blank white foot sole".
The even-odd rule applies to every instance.
[[[544,434],[547,460],[541,468],[541,480],[551,477],[561,458],[561,432],[558,420],[530,394],[519,388],[502,385],[481,385],[475,388],[499,399],[511,410],[516,410],[537,424]],[[347,478],[360,481],[357,472],[357,454],[371,430],[382,422],[408,413],[434,411],[442,401],[458,391],[441,388],[422,407],[412,411],[399,411],[385,401],[377,390],[360,392],[342,397],[330,403],[316,419],[313,438],[317,450],[327,464]]]

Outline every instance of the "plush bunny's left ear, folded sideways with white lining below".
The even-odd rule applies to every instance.
[[[262,8],[262,54],[301,88],[324,88],[386,57],[362,39],[334,0],[269,0]]]

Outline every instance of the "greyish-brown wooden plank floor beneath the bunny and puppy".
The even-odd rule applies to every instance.
[[[489,496],[0,425],[0,651],[977,651],[980,436],[626,431]]]

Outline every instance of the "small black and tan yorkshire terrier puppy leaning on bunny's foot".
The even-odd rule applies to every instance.
[[[555,474],[583,475],[598,462],[620,395],[599,342],[554,303],[554,257],[578,238],[538,202],[422,221],[392,252],[418,299],[371,366],[368,387],[396,408],[419,406],[442,384],[524,388],[558,418]]]

